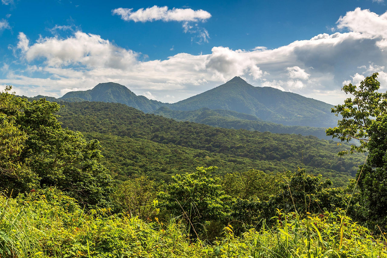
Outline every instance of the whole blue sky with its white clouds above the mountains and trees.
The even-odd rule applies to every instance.
[[[175,102],[240,76],[338,104],[343,83],[379,72],[387,84],[382,0],[2,0],[0,7],[0,85],[26,96],[113,81]]]

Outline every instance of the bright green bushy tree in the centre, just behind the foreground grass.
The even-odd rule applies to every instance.
[[[161,207],[182,215],[189,234],[203,234],[211,221],[223,221],[229,213],[231,197],[222,190],[219,178],[210,178],[217,167],[197,167],[191,174],[177,174],[166,192],[159,194]],[[196,234],[195,234],[196,232]]]

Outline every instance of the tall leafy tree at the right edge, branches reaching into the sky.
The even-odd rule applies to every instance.
[[[351,153],[368,151],[367,160],[356,176],[361,195],[357,215],[387,229],[387,92],[378,92],[377,75],[366,77],[359,88],[352,84],[343,87],[354,99],[348,98],[344,105],[332,109],[343,118],[337,127],[327,129],[327,135],[342,141],[360,140],[360,145],[351,146]]]

